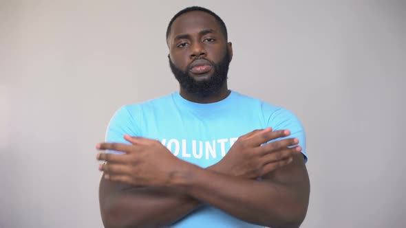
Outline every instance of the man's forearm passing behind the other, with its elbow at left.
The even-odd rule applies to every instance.
[[[207,170],[217,170],[210,166]],[[100,181],[100,209],[103,223],[110,227],[164,227],[184,218],[200,201],[170,187],[117,187]]]

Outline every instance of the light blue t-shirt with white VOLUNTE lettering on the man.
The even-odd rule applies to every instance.
[[[122,106],[109,122],[106,141],[129,144],[124,135],[159,140],[173,155],[202,168],[217,163],[238,137],[252,130],[288,129],[306,156],[306,136],[290,111],[235,91],[220,102],[199,104],[180,93]],[[172,227],[259,227],[206,205]]]

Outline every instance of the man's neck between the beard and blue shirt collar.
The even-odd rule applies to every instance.
[[[190,102],[201,103],[201,104],[209,104],[214,102],[220,102],[220,100],[224,100],[227,96],[231,93],[228,90],[227,83],[224,83],[223,86],[218,90],[210,94],[201,93],[189,93],[186,89],[180,87],[180,95],[182,98],[189,100]]]

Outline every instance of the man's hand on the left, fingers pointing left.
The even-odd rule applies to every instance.
[[[100,152],[97,155],[99,170],[105,179],[137,186],[164,186],[186,162],[173,156],[159,141],[141,137],[124,137],[129,144],[101,143],[98,150],[116,150],[124,155]]]

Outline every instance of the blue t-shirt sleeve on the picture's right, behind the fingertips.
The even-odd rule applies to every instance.
[[[301,152],[305,162],[308,161],[308,155],[306,153],[306,134],[300,120],[295,114],[286,109],[279,108],[270,115],[268,126],[271,126],[273,130],[290,130],[290,135],[285,138],[296,137],[299,139],[299,146],[302,148]]]

